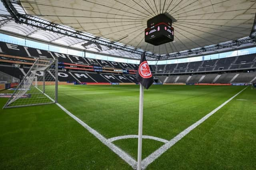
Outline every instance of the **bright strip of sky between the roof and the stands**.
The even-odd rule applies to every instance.
[[[38,43],[36,41],[31,40],[25,40],[22,38],[5,35],[0,33],[0,41],[4,41],[6,43],[13,43],[17,45],[24,45],[27,47],[37,48],[37,49],[43,49],[43,50],[49,50],[54,51],[57,53],[64,53],[68,55],[75,55],[80,57],[87,57],[92,59],[101,59],[101,60],[107,60],[107,61],[115,61],[115,62],[122,62],[122,63],[132,63],[132,64],[139,64],[140,61],[138,60],[132,60],[132,59],[122,59],[117,57],[110,57],[107,55],[99,55],[96,53],[89,53],[86,52],[84,55],[84,51],[78,51],[73,49],[67,49],[63,47],[58,47],[55,45],[48,45],[45,43]],[[199,57],[190,57],[186,59],[172,59],[172,60],[165,60],[165,61],[148,61],[148,64],[175,64],[175,63],[186,63],[186,62],[193,62],[193,61],[202,61],[202,60],[210,60],[210,59],[220,59],[225,57],[234,57],[237,55],[246,55],[256,53],[256,47],[248,48],[248,49],[242,49],[242,50],[236,50],[226,53],[219,53],[214,55],[205,55],[205,56],[199,56]]]

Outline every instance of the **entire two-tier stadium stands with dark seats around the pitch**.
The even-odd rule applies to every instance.
[[[0,42],[0,47],[2,50],[2,53],[0,53],[0,64],[2,64],[0,72],[20,80],[24,76],[22,70],[24,70],[24,73],[27,72],[36,57],[47,57],[51,59],[58,58],[59,68],[61,68],[59,71],[59,81],[137,83],[136,78],[129,74],[136,73],[138,64],[90,59],[31,47],[25,48],[21,45],[4,42]],[[20,64],[20,68],[14,67],[14,63]],[[242,72],[242,69],[256,68],[256,55],[250,54],[190,63],[150,65],[150,68],[154,74],[162,74],[162,76],[158,77],[159,81],[164,82],[166,80],[166,83],[185,83],[187,80],[188,82],[199,82],[200,79],[202,79],[201,83],[230,83],[233,78],[232,82],[248,82],[251,78],[249,75],[253,76],[253,73],[240,73],[237,77],[234,77],[236,73],[223,74],[221,72],[222,74],[217,77],[217,71],[239,69]],[[129,74],[122,75],[124,71]],[[118,72],[121,74],[118,74]],[[182,75],[182,73],[191,72],[194,75]],[[204,74],[204,72],[210,72],[210,74]],[[166,75],[163,74],[170,74],[170,76],[166,79]],[[245,77],[244,79],[243,76]]]

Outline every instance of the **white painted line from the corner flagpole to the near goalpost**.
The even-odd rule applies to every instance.
[[[109,149],[111,149],[113,152],[115,152],[120,158],[122,158],[125,162],[127,162],[132,168],[136,168],[137,162],[132,158],[129,154],[124,152],[122,149],[118,148],[116,145],[111,143],[108,139],[106,139],[104,136],[102,136],[100,133],[92,129],[90,126],[88,126],[86,123],[84,123],[82,120],[80,120],[78,117],[70,113],[67,109],[65,109],[60,104],[56,103],[57,106],[59,106],[63,111],[65,111],[70,117],[72,117],[74,120],[76,120],[80,125],[82,125],[85,129],[87,129],[92,135],[94,135],[96,138],[98,138],[104,145],[106,145]]]

